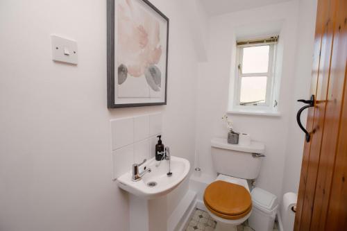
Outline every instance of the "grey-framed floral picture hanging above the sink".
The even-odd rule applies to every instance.
[[[108,0],[108,108],[167,104],[169,19],[147,0]]]

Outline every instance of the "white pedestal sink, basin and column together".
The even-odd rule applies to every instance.
[[[134,182],[132,171],[117,178],[121,189],[128,191],[130,204],[130,231],[167,230],[167,203],[164,195],[169,194],[187,177],[190,169],[188,160],[171,156],[171,176],[168,176],[169,160],[159,162],[152,158],[145,162],[144,167],[151,168],[150,173]],[[158,222],[158,216],[162,216]]]

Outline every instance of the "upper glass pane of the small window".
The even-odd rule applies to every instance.
[[[267,72],[269,49],[269,45],[245,47],[242,57],[242,74]]]

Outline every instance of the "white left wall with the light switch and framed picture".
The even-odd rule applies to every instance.
[[[108,110],[106,1],[1,1],[1,231],[128,230],[110,119],[162,112],[164,144],[192,162],[197,58],[184,2],[152,3],[170,18],[168,103]],[[51,60],[52,33],[78,42],[78,66]],[[185,190],[169,195],[168,215]]]

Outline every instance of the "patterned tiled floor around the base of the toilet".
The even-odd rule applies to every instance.
[[[192,219],[189,221],[186,231],[213,231],[217,222],[205,211],[196,209]],[[248,221],[237,226],[237,231],[253,231],[248,226]],[[273,231],[278,231],[277,222],[273,226]]]

